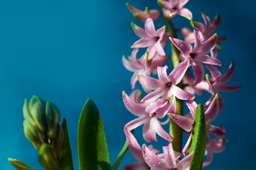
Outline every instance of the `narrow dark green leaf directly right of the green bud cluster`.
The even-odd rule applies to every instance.
[[[63,123],[61,125],[64,132],[64,139],[61,145],[61,154],[60,154],[60,161],[59,161],[59,168],[60,170],[73,170],[73,157],[72,151],[70,147],[70,139],[68,135],[68,124],[67,119],[63,118]]]

